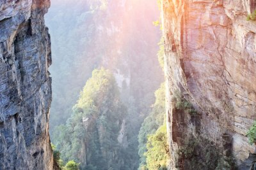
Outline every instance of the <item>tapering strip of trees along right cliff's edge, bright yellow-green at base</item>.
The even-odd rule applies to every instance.
[[[140,169],[156,169],[167,165],[164,83],[156,90],[155,96],[156,102],[152,106],[152,112],[145,118],[138,136]]]

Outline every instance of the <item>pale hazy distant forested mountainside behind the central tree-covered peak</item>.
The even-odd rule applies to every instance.
[[[163,81],[156,57],[161,32],[152,24],[157,18],[155,0],[51,1],[45,16],[52,41],[51,134],[101,66],[114,74],[123,99],[136,103],[143,121]]]

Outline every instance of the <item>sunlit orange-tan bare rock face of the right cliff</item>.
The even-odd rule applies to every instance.
[[[255,149],[246,132],[256,119],[256,23],[246,15],[256,1],[164,0],[162,8],[171,169],[189,169],[176,154],[189,135],[230,150],[240,169],[250,167],[243,162]],[[178,113],[177,90],[200,115]]]

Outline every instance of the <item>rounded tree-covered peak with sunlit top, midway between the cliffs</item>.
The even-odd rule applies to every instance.
[[[81,162],[81,168],[87,169],[106,169],[115,161],[113,154],[122,159],[117,138],[125,113],[113,74],[104,68],[95,69],[72,116],[54,131],[61,158]]]

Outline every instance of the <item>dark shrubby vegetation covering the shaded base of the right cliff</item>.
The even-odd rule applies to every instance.
[[[179,162],[176,166],[185,166],[184,169],[234,169],[230,155],[221,154],[221,148],[208,139],[189,136],[177,155]]]

